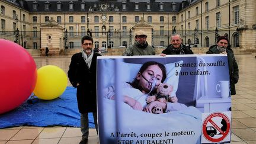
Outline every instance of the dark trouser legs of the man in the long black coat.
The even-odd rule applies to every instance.
[[[97,121],[97,112],[92,113],[94,117],[94,124],[96,131],[98,133],[98,121]],[[81,114],[81,132],[82,132],[82,139],[88,139],[89,136],[89,119],[88,113]]]

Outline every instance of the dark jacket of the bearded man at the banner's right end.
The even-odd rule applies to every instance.
[[[239,79],[239,69],[238,64],[236,63],[235,56],[233,55],[233,50],[230,45],[226,48],[226,52],[228,54],[228,65],[229,65],[229,81],[231,84],[231,95],[236,94],[235,84]],[[220,53],[217,49],[217,45],[213,45],[206,52],[207,54],[218,54]]]

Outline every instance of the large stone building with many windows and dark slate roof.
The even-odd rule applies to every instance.
[[[80,48],[91,34],[95,47],[127,46],[140,20],[151,25],[151,44],[167,46],[172,33],[197,47],[225,35],[232,47],[255,51],[254,0],[1,0],[0,37],[26,49]],[[149,39],[149,38],[148,38]]]

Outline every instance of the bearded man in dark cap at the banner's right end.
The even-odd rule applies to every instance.
[[[235,95],[235,84],[239,79],[238,64],[236,63],[235,56],[233,55],[233,50],[229,44],[229,40],[225,36],[220,36],[217,39],[217,44],[209,48],[207,54],[225,54],[228,55],[228,65],[229,65],[229,81],[231,84],[231,95]]]

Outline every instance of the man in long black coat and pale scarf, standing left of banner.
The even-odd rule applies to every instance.
[[[73,87],[77,88],[76,98],[79,113],[81,113],[82,140],[87,143],[89,136],[88,113],[92,112],[97,130],[97,95],[96,71],[97,56],[100,54],[92,50],[93,39],[91,36],[82,37],[82,52],[76,53],[71,58],[68,77]]]

